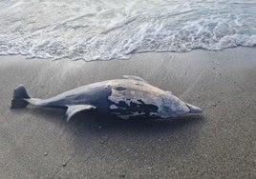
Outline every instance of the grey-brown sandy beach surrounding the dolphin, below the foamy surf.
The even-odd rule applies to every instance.
[[[0,178],[255,178],[256,50],[141,53],[71,62],[0,56]],[[203,114],[120,121],[61,109],[10,109],[24,84],[47,98],[133,74]]]

